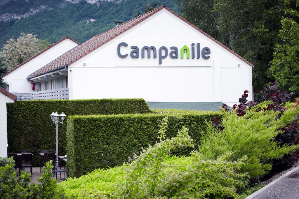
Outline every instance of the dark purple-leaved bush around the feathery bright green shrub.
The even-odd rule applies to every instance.
[[[279,111],[280,114],[277,115],[277,118],[280,118],[281,114],[288,108],[297,107],[298,106],[298,98],[295,98],[294,103],[288,102],[288,100],[291,99],[291,96],[293,93],[287,93],[284,90],[277,90],[279,82],[275,81],[274,83],[271,83],[268,87],[264,87],[263,91],[260,90],[260,95],[262,99],[260,101],[270,101],[267,105],[267,107],[263,107],[264,111],[268,110],[274,110]],[[239,98],[240,104],[235,104],[232,108],[239,116],[243,116],[246,114],[247,109],[251,109],[252,106],[257,105],[257,102],[250,101],[247,102],[248,97],[248,91],[245,90],[244,94],[241,98]],[[222,105],[222,108],[226,111],[232,111],[231,109],[227,108],[226,104]],[[220,130],[223,129],[222,124],[220,123],[220,119],[216,116],[214,117],[213,126],[218,127]],[[276,119],[277,119],[276,118]],[[291,121],[289,124],[287,124],[285,127],[282,127],[280,130],[283,131],[283,133],[278,133],[277,136],[274,137],[274,141],[276,141],[279,146],[283,146],[285,144],[288,145],[294,145],[299,144],[299,124],[298,124],[299,117],[295,117],[293,121]],[[298,148],[299,149],[299,148]],[[290,168],[293,163],[296,161],[296,159],[299,158],[298,154],[299,150],[296,150],[295,152],[292,152],[290,154],[285,154],[279,159],[273,159],[272,162],[272,170],[267,176],[264,176],[263,178],[268,178],[271,176],[271,173],[279,172],[282,169],[288,169]]]

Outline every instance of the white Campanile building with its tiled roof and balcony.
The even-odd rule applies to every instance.
[[[22,88],[7,82],[16,92],[28,92],[31,82],[37,83],[40,91],[31,99],[144,98],[232,106],[244,90],[252,100],[252,67],[162,6],[39,64],[35,72],[28,71]]]

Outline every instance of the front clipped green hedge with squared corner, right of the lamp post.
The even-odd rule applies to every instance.
[[[186,126],[189,135],[199,144],[205,121],[213,120],[220,112],[156,110],[151,114],[75,115],[68,117],[67,155],[68,176],[80,177],[96,168],[122,165],[132,156],[154,144],[160,120],[168,116],[167,137],[176,135]],[[188,155],[191,149],[178,150],[177,155]]]

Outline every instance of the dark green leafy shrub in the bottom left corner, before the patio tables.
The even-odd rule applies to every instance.
[[[40,183],[31,183],[29,186],[30,173],[22,171],[21,175],[16,177],[13,158],[10,158],[9,164],[0,167],[0,198],[68,198],[65,197],[63,189],[58,186],[57,180],[53,178],[52,167],[52,162],[46,163],[42,177],[38,178]]]

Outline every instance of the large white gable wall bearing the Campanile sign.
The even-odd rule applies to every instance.
[[[139,58],[120,58],[117,45],[126,42],[140,49]],[[145,45],[158,49],[200,43],[209,47],[210,59],[141,58]],[[196,53],[195,53],[196,56]],[[180,57],[180,56],[179,56]],[[86,63],[83,66],[83,63]],[[238,67],[238,64],[240,66]],[[72,71],[70,71],[72,70]],[[112,39],[69,67],[70,99],[144,98],[146,101],[238,103],[244,90],[252,100],[251,66],[198,30],[163,9]],[[239,77],[242,77],[240,81]]]

